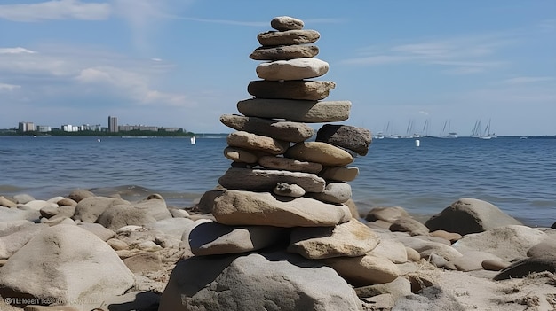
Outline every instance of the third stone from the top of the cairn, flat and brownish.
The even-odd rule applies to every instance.
[[[252,51],[249,58],[255,60],[286,60],[295,58],[314,58],[319,54],[316,45],[283,45],[259,47]]]

